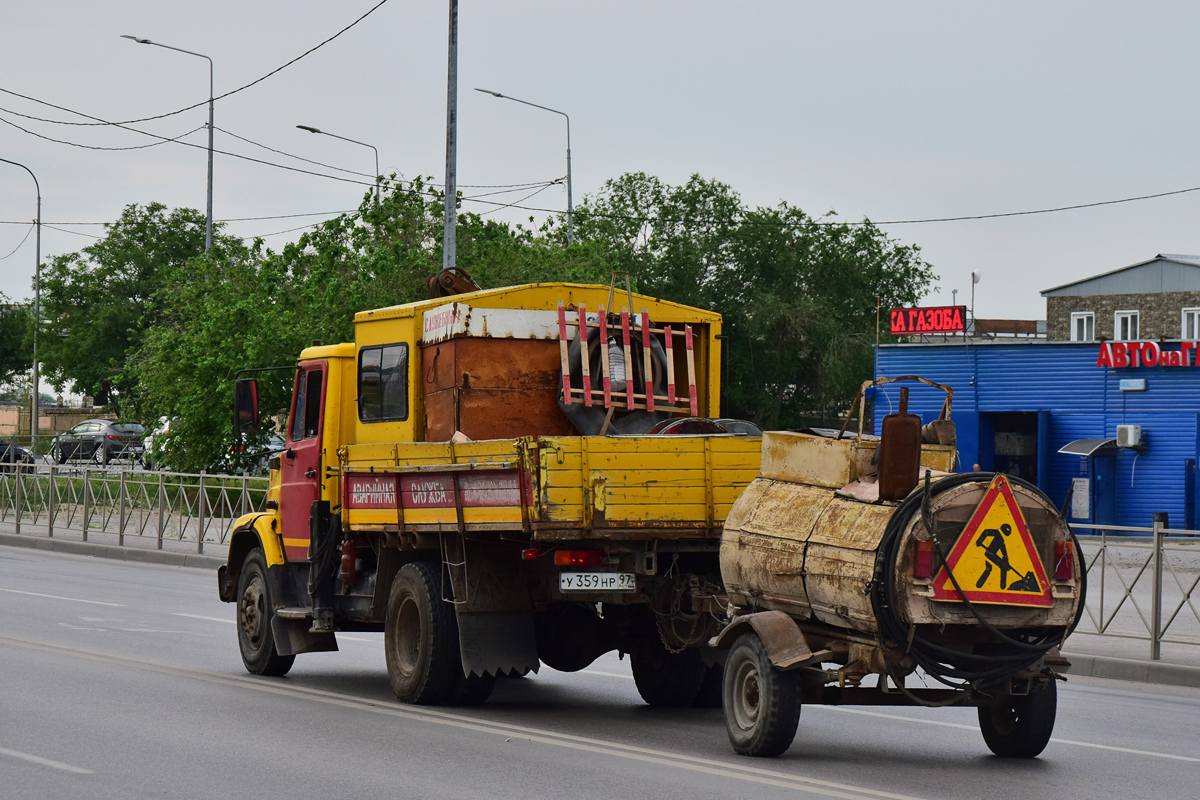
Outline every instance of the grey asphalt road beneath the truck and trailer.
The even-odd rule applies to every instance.
[[[972,709],[806,706],[737,757],[719,710],[643,705],[628,662],[544,668],[487,705],[395,702],[382,637],[248,675],[209,572],[0,547],[2,798],[1195,796],[1200,690],[1072,679],[1034,760]]]

